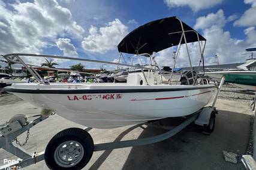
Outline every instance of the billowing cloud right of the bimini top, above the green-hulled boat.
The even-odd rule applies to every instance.
[[[219,55],[220,63],[234,63],[234,62],[244,62],[245,58],[242,57],[242,54],[245,52],[245,48],[248,48],[255,44],[255,41],[252,41],[252,38],[249,36],[256,36],[255,28],[251,27],[245,29],[244,33],[246,35],[245,39],[236,39],[231,38],[230,32],[224,31],[223,27],[229,21],[229,17],[226,19],[223,11],[220,13],[220,10],[215,14],[208,14],[204,17],[204,20],[201,21],[201,24],[205,27],[197,27],[198,29],[203,30],[203,36],[207,39],[205,56],[207,57],[206,61],[210,63],[212,57],[215,54]],[[215,18],[216,20],[212,20]],[[218,20],[218,21],[217,21]],[[195,23],[195,26],[198,26],[198,22]]]

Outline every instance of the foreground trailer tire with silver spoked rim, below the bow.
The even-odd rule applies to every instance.
[[[68,128],[56,134],[47,144],[44,160],[49,169],[82,169],[94,152],[91,135],[80,128]]]

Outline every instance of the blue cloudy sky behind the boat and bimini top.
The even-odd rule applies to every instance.
[[[118,61],[117,45],[129,32],[160,18],[177,16],[207,39],[206,64],[245,62],[246,48],[256,47],[256,0],[0,0],[0,54],[13,52]],[[198,44],[188,45],[193,66]],[[157,52],[160,66],[171,66],[176,47]],[[125,55],[129,61],[130,55]],[[24,58],[29,63],[44,58]],[[56,60],[58,67],[74,61]],[[189,66],[185,46],[177,67]],[[124,63],[124,61],[122,61]],[[1,63],[0,63],[1,64]],[[83,63],[88,69],[100,64]]]

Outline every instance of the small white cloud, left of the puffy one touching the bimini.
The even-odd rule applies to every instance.
[[[59,38],[56,42],[57,47],[63,51],[67,57],[77,57],[76,47],[71,44],[71,40],[68,38]]]

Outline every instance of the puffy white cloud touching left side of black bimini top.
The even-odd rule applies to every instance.
[[[118,43],[127,34],[128,27],[122,24],[119,19],[115,19],[100,29],[91,26],[89,36],[82,41],[82,47],[87,52],[105,54],[107,51],[115,50]]]

